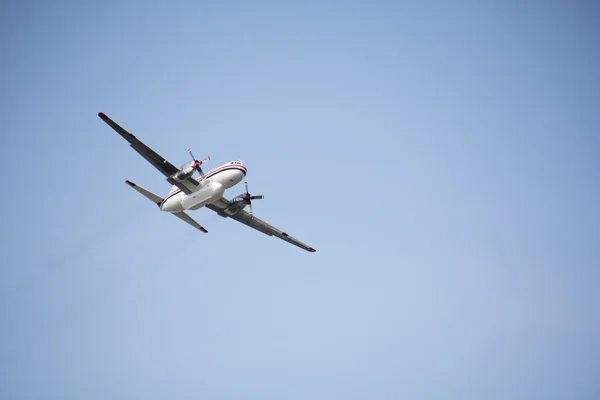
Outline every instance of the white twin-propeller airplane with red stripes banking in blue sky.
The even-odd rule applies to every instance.
[[[263,199],[264,196],[251,195],[248,192],[247,182],[245,182],[245,193],[242,193],[231,200],[227,200],[223,197],[223,193],[226,189],[230,189],[237,185],[246,176],[248,169],[242,161],[231,161],[205,174],[201,165],[208,162],[210,157],[206,157],[200,161],[194,157],[191,150],[188,150],[192,161],[177,168],[150,147],[142,143],[134,135],[123,129],[119,124],[107,117],[103,112],[99,112],[98,116],[127,140],[129,145],[144,157],[146,161],[162,172],[162,174],[167,177],[167,182],[173,185],[169,194],[165,197],[161,197],[129,180],[125,181],[130,187],[158,205],[160,211],[170,213],[182,221],[187,222],[199,231],[207,233],[208,231],[202,225],[197,223],[186,213],[186,211],[205,207],[216,212],[221,217],[234,219],[259,232],[269,236],[278,237],[281,240],[285,240],[286,242],[311,253],[316,251],[314,248],[294,239],[287,233],[255,217],[252,213],[252,200]],[[198,178],[193,177],[196,171],[200,175]],[[248,207],[248,211],[244,211],[246,207]]]

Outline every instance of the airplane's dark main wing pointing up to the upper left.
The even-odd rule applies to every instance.
[[[111,128],[113,128],[119,135],[121,135],[123,139],[127,140],[129,142],[129,145],[135,151],[137,151],[142,157],[144,157],[150,164],[154,165],[154,167],[157,170],[162,172],[162,174],[167,177],[167,181],[169,183],[177,186],[179,189],[181,189],[183,193],[190,194],[199,185],[199,183],[191,177],[187,178],[183,182],[178,182],[172,179],[171,176],[176,174],[179,171],[179,168],[165,160],[164,157],[152,150],[150,147],[146,146],[144,143],[142,143],[142,141],[133,136],[131,133],[127,132],[115,121],[108,118],[103,112],[99,112],[98,116]]]

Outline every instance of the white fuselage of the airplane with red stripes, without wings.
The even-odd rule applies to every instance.
[[[219,200],[226,189],[240,183],[246,172],[242,162],[232,161],[208,172],[204,178],[197,178],[200,185],[190,194],[185,194],[174,186],[161,203],[160,210],[173,213],[204,207]]]

